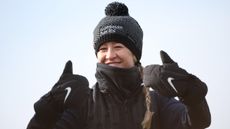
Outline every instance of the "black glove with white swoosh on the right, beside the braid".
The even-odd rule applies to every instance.
[[[163,96],[178,96],[185,104],[204,100],[207,94],[206,84],[180,68],[164,51],[160,51],[160,55],[163,65],[148,65],[144,68],[144,84]]]

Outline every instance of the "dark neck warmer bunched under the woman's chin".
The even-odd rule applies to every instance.
[[[102,93],[112,93],[119,98],[128,99],[142,89],[141,75],[136,66],[117,68],[98,63],[95,76]]]

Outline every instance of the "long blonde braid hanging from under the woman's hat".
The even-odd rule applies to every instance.
[[[134,59],[135,60],[135,59]],[[143,66],[141,65],[140,62],[136,62],[135,63],[136,66],[138,67],[140,74],[141,74],[141,78],[143,79]],[[145,116],[143,121],[141,122],[142,128],[143,129],[150,129],[151,128],[151,123],[152,123],[152,117],[154,112],[151,111],[151,96],[149,94],[150,90],[149,87],[147,86],[143,86],[143,93],[145,96],[145,107],[146,107],[146,111],[145,111]]]

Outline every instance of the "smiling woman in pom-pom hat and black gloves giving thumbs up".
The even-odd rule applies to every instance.
[[[208,127],[206,85],[163,51],[163,65],[149,65],[143,71],[143,32],[138,22],[129,16],[127,6],[119,2],[110,3],[105,13],[94,30],[96,84],[90,89],[87,79],[74,75],[72,63],[67,62],[52,90],[35,103],[36,113],[27,128]],[[149,91],[149,87],[154,91]]]

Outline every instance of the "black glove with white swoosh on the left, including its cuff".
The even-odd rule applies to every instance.
[[[36,115],[45,122],[54,122],[65,109],[80,109],[88,92],[88,80],[81,75],[74,75],[72,62],[68,61],[60,79],[51,91],[34,104]]]

